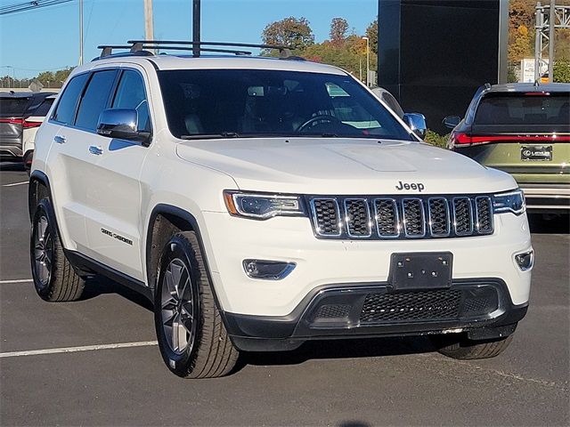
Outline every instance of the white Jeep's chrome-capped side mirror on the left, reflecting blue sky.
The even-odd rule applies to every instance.
[[[97,123],[97,133],[118,140],[137,141],[148,147],[150,132],[137,131],[136,109],[103,109]]]

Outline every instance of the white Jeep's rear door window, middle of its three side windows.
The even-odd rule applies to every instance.
[[[110,90],[115,82],[117,71],[114,69],[94,73],[79,104],[75,125],[94,131],[99,116],[107,106]]]

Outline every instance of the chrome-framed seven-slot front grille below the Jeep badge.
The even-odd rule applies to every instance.
[[[308,197],[317,238],[462,238],[493,234],[489,196]]]

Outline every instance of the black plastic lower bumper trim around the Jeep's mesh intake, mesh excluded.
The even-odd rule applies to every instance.
[[[311,316],[315,307],[318,307],[319,300],[322,300],[323,294],[336,293],[339,301],[342,301],[343,298],[348,301],[355,301],[356,298],[360,297],[359,295],[374,293],[380,289],[384,292],[390,292],[387,282],[379,282],[319,286],[307,294],[303,301],[297,304],[295,310],[287,316],[249,316],[224,312],[225,326],[232,337],[232,341],[240,350],[262,351],[292,350],[308,340],[437,334],[446,329],[455,328],[476,331],[471,333],[474,336],[499,336],[498,334],[506,334],[509,330],[509,328],[502,328],[502,326],[514,325],[525,317],[528,304],[514,305],[510,300],[509,290],[505,282],[499,278],[454,280],[452,287],[477,285],[495,286],[500,291],[500,308],[495,312],[494,318],[445,321],[416,320],[382,325],[330,324],[330,326],[314,326],[311,324]],[[362,306],[357,306],[359,312],[361,308]]]

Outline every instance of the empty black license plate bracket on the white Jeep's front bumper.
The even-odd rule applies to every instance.
[[[450,287],[452,262],[451,252],[392,254],[388,284],[394,290]]]

